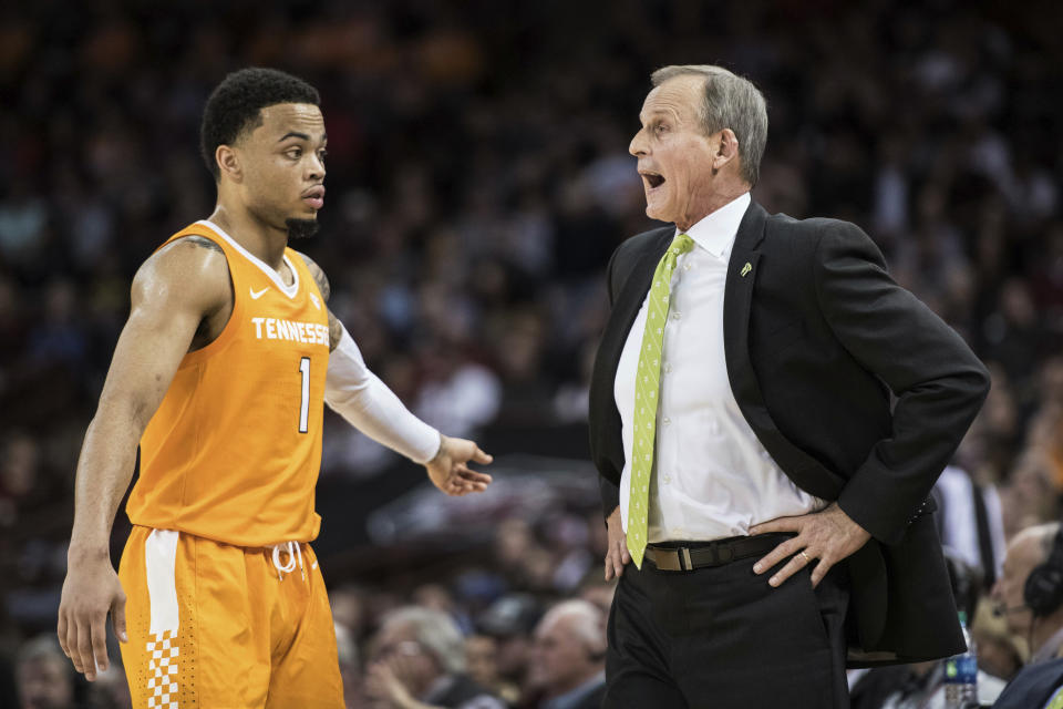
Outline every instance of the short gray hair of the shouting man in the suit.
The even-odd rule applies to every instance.
[[[767,102],[753,82],[712,64],[673,64],[654,71],[650,81],[660,86],[675,76],[704,76],[701,124],[705,135],[731,129],[739,140],[742,177],[750,186],[761,176],[761,157],[767,143]]]

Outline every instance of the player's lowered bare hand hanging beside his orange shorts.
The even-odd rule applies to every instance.
[[[111,559],[71,559],[59,604],[59,645],[89,681],[110,665],[107,613],[114,634],[125,643],[125,593]]]

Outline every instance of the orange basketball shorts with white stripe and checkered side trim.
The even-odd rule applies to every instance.
[[[342,709],[332,612],[309,544],[245,548],[134,526],[118,578],[134,707]]]

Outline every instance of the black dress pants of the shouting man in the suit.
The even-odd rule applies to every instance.
[[[813,588],[806,567],[772,588],[771,572],[753,573],[757,558],[689,572],[628,564],[602,707],[846,709],[845,569]]]

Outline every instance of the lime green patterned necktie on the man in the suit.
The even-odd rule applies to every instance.
[[[647,308],[642,349],[639,352],[639,371],[634,380],[631,494],[628,497],[628,551],[640,569],[642,553],[646,551],[650,476],[653,473],[653,448],[657,440],[657,392],[661,381],[661,348],[664,345],[664,323],[668,321],[668,294],[672,287],[672,271],[675,270],[679,255],[685,254],[693,246],[692,238],[678,234],[657,265],[650,286],[650,306]]]

